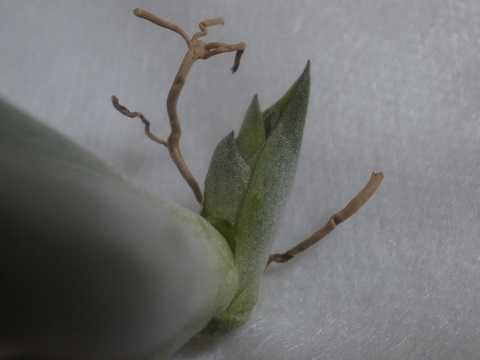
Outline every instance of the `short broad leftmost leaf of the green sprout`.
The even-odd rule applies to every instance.
[[[202,215],[214,226],[215,223],[222,224],[218,229],[220,232],[235,224],[250,173],[250,167],[240,154],[231,132],[217,145],[205,179]]]

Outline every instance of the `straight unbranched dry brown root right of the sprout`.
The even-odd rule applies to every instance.
[[[272,254],[268,258],[267,266],[272,262],[284,263],[291,260],[295,255],[301,253],[302,251],[308,249],[327,234],[329,234],[337,225],[341,224],[353,214],[355,214],[377,191],[378,187],[382,183],[383,174],[372,173],[370,180],[367,185],[360,190],[360,192],[345,206],[342,210],[330,217],[328,222],[318,231],[310,235],[307,239],[289,249],[288,251],[281,254]]]

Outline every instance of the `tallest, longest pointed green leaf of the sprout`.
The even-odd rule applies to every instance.
[[[241,324],[255,305],[276,224],[297,169],[309,97],[309,65],[267,111],[267,115],[275,114],[269,118],[270,135],[256,160],[235,226],[239,290],[229,309],[214,320],[218,327]]]

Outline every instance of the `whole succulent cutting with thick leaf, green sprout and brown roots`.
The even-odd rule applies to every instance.
[[[221,18],[189,37],[145,10],[134,14],[187,45],[167,98],[171,133],[112,97],[123,115],[168,149],[201,204],[195,214],[137,189],[108,165],[12,105],[0,102],[0,359],[163,359],[196,333],[244,324],[266,267],[291,260],[352,216],[379,187],[367,185],[327,224],[270,254],[297,168],[310,64],[274,105],[254,96],[235,136],[217,145],[204,190],[180,150],[177,102],[192,65],[245,43],[204,42]]]

